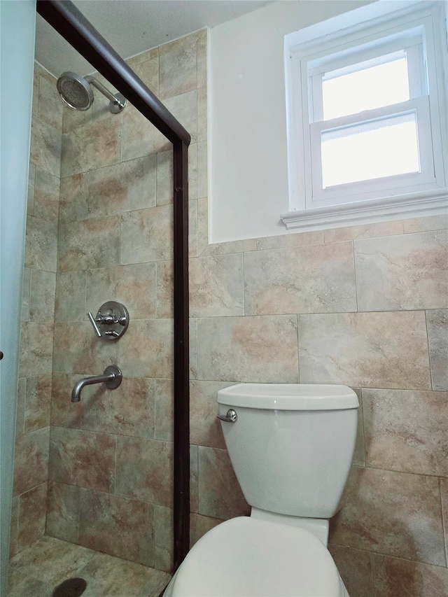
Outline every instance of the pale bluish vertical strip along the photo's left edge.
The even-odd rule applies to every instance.
[[[34,69],[34,0],[1,0],[0,595],[6,597]]]

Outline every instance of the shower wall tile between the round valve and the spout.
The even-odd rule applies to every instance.
[[[89,322],[56,323],[54,373],[102,375],[117,362],[118,343],[98,338]]]

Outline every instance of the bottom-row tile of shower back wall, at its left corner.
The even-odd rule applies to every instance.
[[[46,535],[78,542],[79,491],[77,485],[48,482]]]

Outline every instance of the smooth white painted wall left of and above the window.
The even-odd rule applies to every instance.
[[[211,29],[211,242],[287,234],[283,38],[366,3],[281,0]]]

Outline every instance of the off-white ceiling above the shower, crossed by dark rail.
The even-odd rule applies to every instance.
[[[75,0],[73,2],[123,58],[250,13],[267,0]],[[36,18],[36,60],[50,73],[94,72],[42,17]]]

